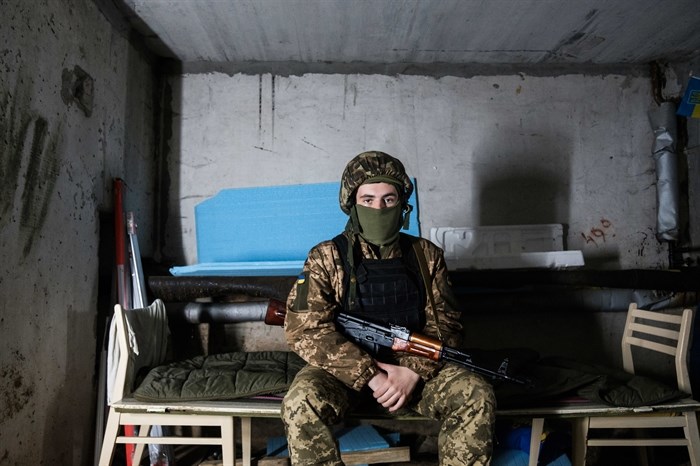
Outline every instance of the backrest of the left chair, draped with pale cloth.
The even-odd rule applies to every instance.
[[[165,361],[168,349],[168,318],[160,299],[142,309],[114,306],[115,338],[119,348],[112,401],[131,394],[138,371]]]

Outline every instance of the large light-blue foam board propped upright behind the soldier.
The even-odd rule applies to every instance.
[[[195,206],[198,264],[170,272],[296,275],[313,246],[345,228],[339,190],[338,182],[222,190]],[[406,233],[419,236],[415,192],[409,203],[414,210]]]

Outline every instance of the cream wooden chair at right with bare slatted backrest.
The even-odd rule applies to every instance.
[[[638,309],[630,304],[622,336],[622,359],[625,371],[634,374],[634,360],[652,353],[661,353],[675,359],[678,389],[692,394],[688,373],[688,349],[690,346],[693,311],[685,309],[680,315]],[[633,351],[633,347],[635,350]],[[652,352],[652,353],[650,353]],[[687,408],[683,409],[683,403]],[[688,398],[674,402],[680,406],[675,412],[653,413],[640,408],[633,414],[580,417],[574,420],[573,463],[585,464],[589,446],[685,446],[692,466],[700,465],[700,436],[695,410],[697,402]],[[645,412],[646,411],[646,412]],[[591,438],[595,429],[627,429],[639,434],[639,429],[682,429],[683,436],[676,438],[642,438],[640,435],[624,438]],[[621,431],[622,432],[622,431]],[[626,432],[626,431],[625,431]],[[646,449],[642,450],[642,462],[647,463]]]

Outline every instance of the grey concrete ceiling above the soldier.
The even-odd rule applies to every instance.
[[[183,64],[636,65],[700,50],[698,0],[115,0]]]

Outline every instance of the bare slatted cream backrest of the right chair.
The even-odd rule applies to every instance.
[[[622,335],[622,364],[634,373],[632,347],[644,348],[669,355],[675,360],[678,389],[691,394],[688,372],[688,350],[693,327],[693,311],[684,309],[678,314],[639,309],[631,303]]]

